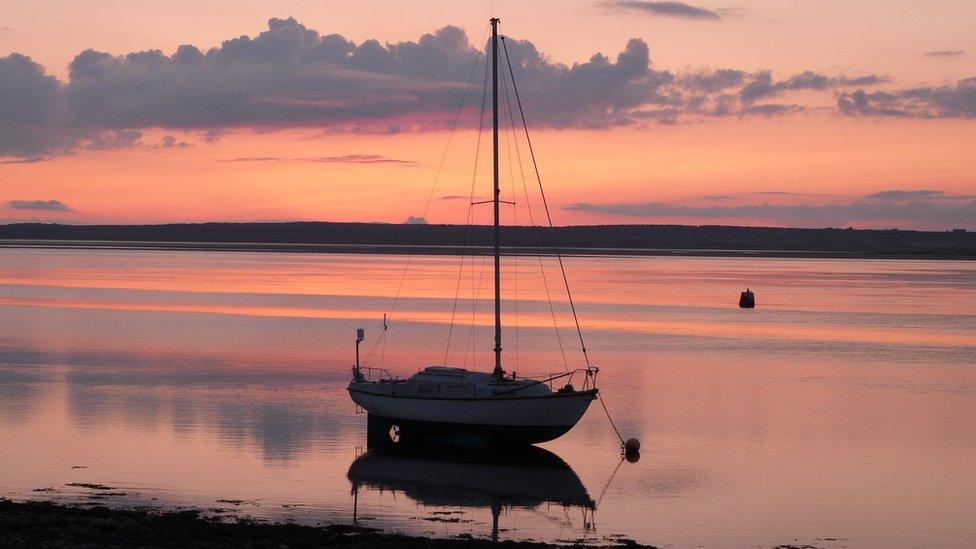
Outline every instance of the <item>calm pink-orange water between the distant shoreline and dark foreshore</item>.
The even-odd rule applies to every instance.
[[[643,443],[621,464],[598,405],[525,459],[366,453],[355,328],[401,375],[492,360],[482,258],[414,258],[379,337],[407,261],[0,249],[0,495],[439,536],[488,536],[495,514],[505,539],[976,538],[972,262],[568,259],[607,404]],[[538,262],[505,268],[508,369],[562,371]]]

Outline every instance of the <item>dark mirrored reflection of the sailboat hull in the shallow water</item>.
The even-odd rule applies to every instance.
[[[579,509],[585,531],[593,527],[596,510],[573,469],[536,446],[501,452],[483,446],[468,450],[398,442],[370,448],[352,463],[347,476],[354,520],[360,490],[399,492],[421,505],[490,509],[495,541],[504,508],[556,504]]]

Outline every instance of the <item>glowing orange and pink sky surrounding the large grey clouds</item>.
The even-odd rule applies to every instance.
[[[533,141],[557,224],[976,229],[976,85],[969,93],[960,83],[976,76],[976,33],[971,32],[976,4],[687,5],[715,18],[628,11],[593,1],[529,6],[496,1],[493,11],[503,18],[505,33],[532,41],[550,61],[567,65],[585,62],[596,52],[614,61],[629,39],[640,38],[649,47],[651,67],[675,75],[718,68],[769,70],[772,81],[784,86],[804,71],[832,79],[880,75],[884,82],[864,86],[869,94],[941,87],[953,95],[927,99],[922,115],[887,116],[875,108],[846,116],[838,112],[837,98],[856,86],[832,85],[777,92],[767,100],[804,107],[791,114],[683,115],[675,124],[541,128]],[[206,1],[191,9],[110,1],[19,2],[0,14],[0,57],[13,52],[29,56],[63,85],[69,81],[68,64],[87,48],[112,55],[159,48],[170,55],[180,44],[194,44],[206,51],[228,38],[255,37],[267,29],[269,17],[287,16],[356,44],[368,38],[415,41],[449,24],[478,42],[490,10],[488,3],[407,7],[367,1],[357,6]],[[527,98],[532,100],[539,98]],[[915,105],[899,106],[905,104]],[[531,122],[533,113],[527,114]],[[2,125],[12,124],[5,122],[11,116],[5,119],[0,110],[0,153]],[[113,124],[118,128],[120,122]],[[424,215],[448,141],[443,129],[349,133],[293,122],[260,130],[241,123],[227,128],[121,124],[141,137],[111,150],[79,144],[57,154],[0,154],[5,162],[0,164],[0,222],[401,222]],[[220,139],[207,142],[207,129],[220,130]],[[187,146],[162,147],[164,136]],[[464,221],[467,201],[441,197],[468,195],[474,137],[470,130],[455,137],[425,215],[430,222]],[[504,139],[502,147],[507,162]],[[403,162],[365,163],[356,155]],[[235,161],[241,158],[276,160]],[[322,158],[330,161],[309,161]],[[484,178],[487,165],[481,168],[476,195],[486,195],[490,184]],[[502,173],[509,193],[507,164]],[[909,194],[865,198],[886,191]],[[927,192],[911,194],[918,191]],[[524,200],[519,202],[517,215],[524,222]],[[585,204],[573,206],[580,203]],[[769,207],[757,209],[763,204]],[[487,209],[478,212],[487,221]],[[513,212],[506,215],[511,220]]]

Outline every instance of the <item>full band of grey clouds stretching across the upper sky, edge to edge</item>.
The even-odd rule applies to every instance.
[[[685,18],[710,12],[680,2],[614,6]],[[537,127],[606,129],[728,116],[786,116],[810,110],[789,94],[827,95],[848,116],[976,117],[976,79],[941,87],[878,90],[884,75],[848,77],[814,71],[777,78],[734,68],[675,72],[654,66],[640,39],[613,57],[595,54],[566,65],[534,44],[507,39],[519,89]],[[295,19],[271,19],[255,37],[203,51],[182,45],[111,55],[78,54],[66,81],[29,57],[0,58],[0,157],[50,157],[77,149],[142,144],[143,131],[194,131],[207,142],[239,128],[274,131],[418,132],[450,127],[481,45],[444,27],[416,41],[355,43],[320,34]],[[484,58],[481,56],[483,67]],[[477,118],[477,91],[462,124]],[[785,100],[784,100],[785,99]],[[163,148],[183,142],[164,137]],[[189,145],[189,143],[185,143]],[[148,145],[147,145],[148,146]]]

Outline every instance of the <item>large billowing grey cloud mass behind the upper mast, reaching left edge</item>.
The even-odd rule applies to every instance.
[[[530,42],[507,45],[536,125],[627,124],[629,111],[664,101],[658,88],[672,80],[667,71],[650,69],[648,47],[636,39],[615,61],[598,54],[572,66],[552,62]],[[441,129],[453,121],[479,49],[456,27],[416,42],[357,45],[294,19],[272,19],[257,37],[227,40],[206,52],[191,45],[172,55],[86,50],[71,62],[64,85],[28,58],[11,56],[4,68],[17,71],[9,79],[24,90],[9,99],[10,92],[0,90],[9,106],[0,116],[19,117],[17,125],[31,131],[60,129],[55,135],[63,137],[64,148],[92,149],[134,145],[138,137],[131,132],[150,127],[199,129],[211,142],[238,127]],[[70,116],[43,119],[59,108]],[[467,125],[474,123],[473,110],[466,112]],[[54,145],[40,148],[36,139],[11,134],[13,124],[4,122],[0,154],[54,152]]]

